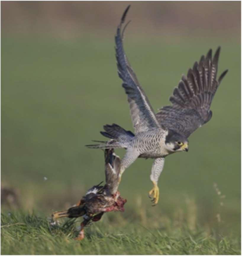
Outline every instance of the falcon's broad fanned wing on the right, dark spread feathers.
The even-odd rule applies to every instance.
[[[210,106],[214,94],[222,79],[228,72],[225,70],[218,80],[217,69],[220,47],[212,59],[212,49],[199,63],[195,62],[193,69],[188,70],[187,77],[182,76],[178,87],[170,97],[172,106],[165,106],[156,114],[159,123],[188,137],[212,117]]]

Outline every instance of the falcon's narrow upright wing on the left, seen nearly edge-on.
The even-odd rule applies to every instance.
[[[125,16],[129,7],[130,5],[126,8],[124,14],[122,15],[121,22],[118,25],[117,34],[115,36],[115,49],[118,75],[123,80],[122,86],[128,95],[133,126],[135,133],[138,133],[141,131],[147,131],[150,128],[158,128],[160,125],[156,119],[154,110],[152,109],[149,100],[138,83],[137,77],[129,64],[123,49],[122,39],[125,27],[127,25],[122,30],[122,24],[125,22]]]

